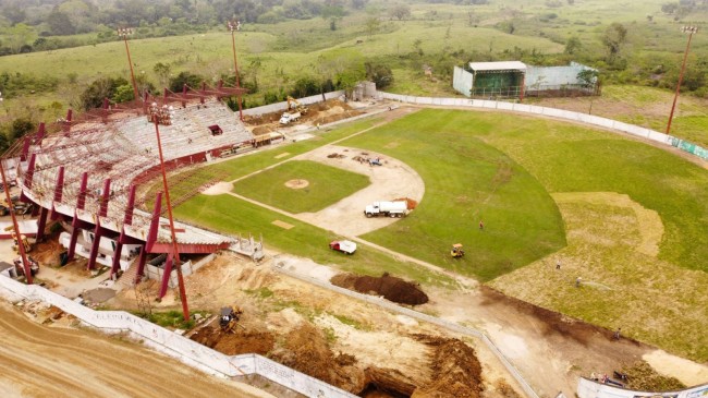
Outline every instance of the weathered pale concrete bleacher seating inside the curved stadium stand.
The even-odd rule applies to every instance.
[[[237,116],[221,101],[211,99],[199,104],[193,100],[184,108],[179,102],[173,107],[172,124],[159,125],[166,162],[253,140]],[[213,124],[223,133],[213,135],[209,130]],[[114,194],[108,204],[108,217],[112,219],[122,219],[133,180],[159,165],[155,124],[134,111],[113,114],[106,124],[83,123],[72,126],[69,134],[60,132],[46,136],[40,146],[30,148],[30,153],[37,155],[30,189],[34,198],[51,203],[59,166],[64,166],[61,202],[72,207],[76,205],[81,176],[87,172],[85,209],[97,214],[103,181],[111,179]],[[136,214],[134,225],[145,226],[149,218],[149,215]]]

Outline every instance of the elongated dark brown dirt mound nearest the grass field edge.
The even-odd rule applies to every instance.
[[[384,299],[399,304],[419,305],[428,302],[428,294],[420,290],[418,285],[390,276],[388,273],[381,277],[338,274],[330,279],[330,282],[359,293],[383,296]]]

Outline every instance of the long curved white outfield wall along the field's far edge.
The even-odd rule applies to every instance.
[[[570,110],[556,109],[556,108],[538,107],[535,105],[492,101],[492,100],[484,100],[484,99],[415,97],[410,95],[390,94],[384,92],[378,92],[377,98],[390,99],[400,102],[417,104],[417,105],[499,109],[499,110],[508,110],[508,111],[522,112],[522,113],[549,116],[552,118],[597,125],[600,128],[619,131],[642,138],[651,140],[654,142],[663,145],[674,146],[681,150],[687,152],[692,155],[696,155],[701,159],[708,160],[707,148],[703,148],[691,142],[678,138],[672,135],[660,133],[658,131],[640,128],[634,124],[623,123],[612,119],[601,118],[599,116],[573,112]]]

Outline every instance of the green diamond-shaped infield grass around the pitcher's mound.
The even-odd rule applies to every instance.
[[[308,185],[285,183],[304,179]],[[293,160],[235,183],[233,192],[290,213],[319,212],[370,184],[367,176],[312,160]]]

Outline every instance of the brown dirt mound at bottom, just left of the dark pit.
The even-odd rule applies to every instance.
[[[356,359],[349,354],[335,355],[321,330],[303,324],[284,338],[284,346],[271,358],[285,366],[319,378],[350,393],[364,389],[365,376],[357,369]]]

